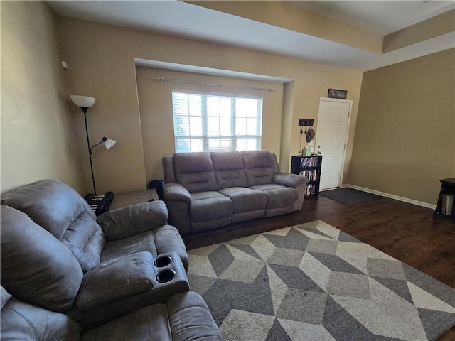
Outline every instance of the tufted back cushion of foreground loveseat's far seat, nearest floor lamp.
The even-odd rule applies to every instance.
[[[26,213],[63,242],[84,272],[100,263],[106,239],[87,202],[70,186],[40,180],[1,196],[1,203]]]

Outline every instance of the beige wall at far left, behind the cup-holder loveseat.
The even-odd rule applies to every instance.
[[[43,178],[82,180],[55,16],[43,2],[1,1],[1,193]]]

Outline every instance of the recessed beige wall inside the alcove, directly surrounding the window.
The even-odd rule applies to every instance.
[[[152,81],[153,77],[224,84],[228,87],[196,85],[185,82]],[[235,77],[201,75],[193,72],[178,72],[152,67],[137,67],[137,87],[141,115],[141,131],[144,143],[144,161],[147,179],[162,179],[163,155],[175,153],[173,136],[172,91],[193,91],[225,95],[249,95],[263,100],[262,145],[279,158],[282,139],[282,83],[259,82]],[[265,90],[253,90],[252,87]]]

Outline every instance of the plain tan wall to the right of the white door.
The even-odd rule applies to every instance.
[[[365,72],[348,183],[436,205],[455,175],[455,49]]]

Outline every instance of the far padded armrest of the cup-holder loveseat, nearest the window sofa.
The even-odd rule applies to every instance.
[[[159,200],[117,208],[97,217],[108,242],[156,229],[166,225],[167,220],[168,209]]]

